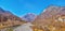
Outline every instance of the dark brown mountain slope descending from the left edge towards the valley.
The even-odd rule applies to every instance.
[[[4,11],[0,7],[0,28],[2,27],[12,27],[16,25],[25,24],[26,21],[22,20],[22,18],[15,16],[10,11]]]

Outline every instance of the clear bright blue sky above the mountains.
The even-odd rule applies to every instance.
[[[0,6],[16,16],[27,13],[39,15],[50,4],[65,6],[65,0],[0,0]]]

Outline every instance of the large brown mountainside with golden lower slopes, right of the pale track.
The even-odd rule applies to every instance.
[[[34,22],[37,28],[46,27],[47,30],[65,31],[65,6],[50,5]]]

